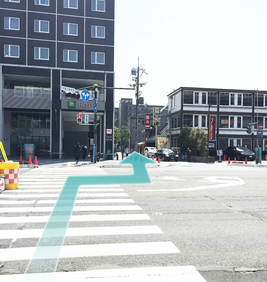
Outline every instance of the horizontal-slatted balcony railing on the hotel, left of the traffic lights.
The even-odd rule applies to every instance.
[[[2,107],[50,109],[50,91],[2,89]]]

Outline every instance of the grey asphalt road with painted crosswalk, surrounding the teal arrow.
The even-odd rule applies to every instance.
[[[52,209],[67,175],[82,175],[88,172],[100,176],[132,173],[131,168],[99,168],[99,164],[104,163],[41,165],[38,169],[25,170],[20,175],[19,190],[29,189],[28,191],[4,191],[0,195],[0,248],[4,251],[4,255],[3,253],[0,255],[2,278],[11,277],[7,274],[25,272],[31,258],[30,251],[28,255],[26,254],[27,250],[34,249],[39,240],[40,235],[36,229],[45,227],[51,213],[51,210],[46,208]],[[151,267],[156,267],[157,270],[159,267],[172,267],[170,271],[173,269],[178,271],[174,267],[193,266],[204,280],[197,280],[201,279],[198,277],[192,280],[181,278],[179,281],[266,281],[267,169],[228,166],[226,162],[222,164],[164,162],[164,165],[147,169],[152,180],[150,185],[129,183],[119,187],[90,188],[88,186],[84,191],[80,189],[77,197],[80,202],[76,200],[77,210],[73,211],[73,216],[105,217],[132,214],[136,215],[136,218],[71,220],[69,229],[94,227],[113,229],[106,231],[86,229],[88,234],[82,233],[85,229],[82,231],[77,229],[77,234],[74,232],[75,234],[67,235],[63,247],[66,247],[66,252],[69,253],[60,257],[56,271],[145,269],[146,267],[150,267],[150,270]],[[50,176],[47,176],[48,174]],[[107,188],[113,191],[105,190],[104,193],[113,194],[104,196],[99,194],[103,193],[101,189]],[[56,191],[57,189],[59,191]],[[83,193],[98,194],[83,196]],[[121,195],[118,195],[120,193]],[[82,202],[88,199],[95,202],[90,204]],[[18,202],[9,204],[7,201]],[[88,205],[90,208],[97,206],[98,210],[88,210]],[[111,206],[117,208],[111,209]],[[25,210],[27,207],[29,210]],[[23,219],[24,216],[35,218],[35,222],[31,219],[28,222]],[[11,222],[2,218],[14,219]],[[117,227],[123,228],[118,230]],[[29,229],[32,230],[28,231]],[[11,235],[7,233],[8,230],[11,230]],[[6,233],[1,233],[2,231]],[[18,231],[28,233],[24,235],[15,233]],[[143,245],[140,245],[141,243]],[[147,243],[154,245],[148,246]],[[114,250],[107,249],[105,254],[98,253],[99,246],[106,248],[111,244],[117,244],[113,246]],[[68,247],[73,245],[78,251],[79,246],[85,248],[87,245],[95,245],[99,248],[95,254],[83,256],[69,250]],[[144,251],[139,251],[142,248]],[[13,249],[12,251],[15,249],[14,254],[9,254],[10,250],[7,249]],[[22,254],[16,253],[19,250]],[[79,252],[82,252],[82,249]],[[1,259],[2,257],[4,259]],[[182,268],[183,271],[186,271],[185,268]],[[161,281],[155,279],[154,277],[153,281]],[[142,278],[138,280],[142,281]],[[165,280],[172,281],[170,278]]]

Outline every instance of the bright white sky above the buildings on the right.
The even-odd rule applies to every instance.
[[[180,86],[267,90],[266,12],[266,0],[115,0],[115,87],[139,56],[150,105]],[[115,102],[134,94],[115,90]]]

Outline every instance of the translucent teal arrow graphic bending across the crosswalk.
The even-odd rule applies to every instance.
[[[67,177],[25,273],[55,272],[80,186],[151,184],[146,164],[155,164],[155,161],[133,152],[119,164],[131,164],[133,174],[71,175]],[[67,203],[66,200],[68,200]]]

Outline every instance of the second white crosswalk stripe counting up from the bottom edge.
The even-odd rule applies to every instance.
[[[35,254],[35,259],[53,259],[55,249],[58,246],[39,247],[45,248],[45,252],[39,252],[42,256]],[[11,261],[31,259],[35,247],[7,248],[2,249],[0,261]],[[112,243],[93,245],[63,245],[59,258],[91,257],[91,256],[122,256],[141,254],[177,254],[179,249],[170,241],[167,242],[145,242],[145,243]]]

